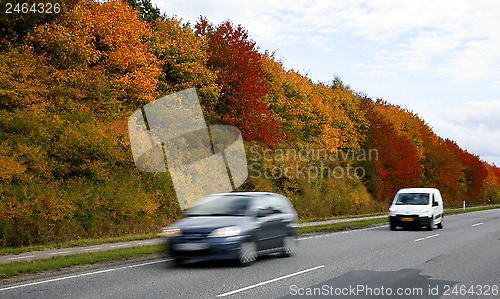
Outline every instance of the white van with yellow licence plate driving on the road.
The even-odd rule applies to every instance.
[[[407,188],[398,191],[389,208],[391,230],[401,227],[443,228],[443,199],[435,188]]]

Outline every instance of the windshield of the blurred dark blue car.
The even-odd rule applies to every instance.
[[[244,216],[247,214],[249,196],[206,196],[188,211],[187,216]]]

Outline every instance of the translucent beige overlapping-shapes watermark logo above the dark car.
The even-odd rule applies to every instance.
[[[136,167],[168,170],[181,209],[204,195],[233,191],[248,177],[240,130],[207,127],[194,88],[141,107],[130,116],[128,130]]]

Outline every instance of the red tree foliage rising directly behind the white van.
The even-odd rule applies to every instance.
[[[417,187],[422,169],[415,147],[384,120],[371,99],[364,98],[360,103],[370,122],[363,148],[378,151],[378,160],[366,161],[363,165],[372,196],[376,200],[389,200],[401,188]]]

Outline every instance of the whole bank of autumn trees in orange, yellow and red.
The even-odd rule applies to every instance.
[[[447,207],[500,203],[497,166],[338,77],[285,69],[241,26],[183,24],[148,0],[60,3],[0,16],[0,246],[175,221],[169,174],[136,169],[127,120],[190,87],[208,124],[242,132],[239,189],[284,194],[301,218],[386,211],[403,187],[439,188]]]

